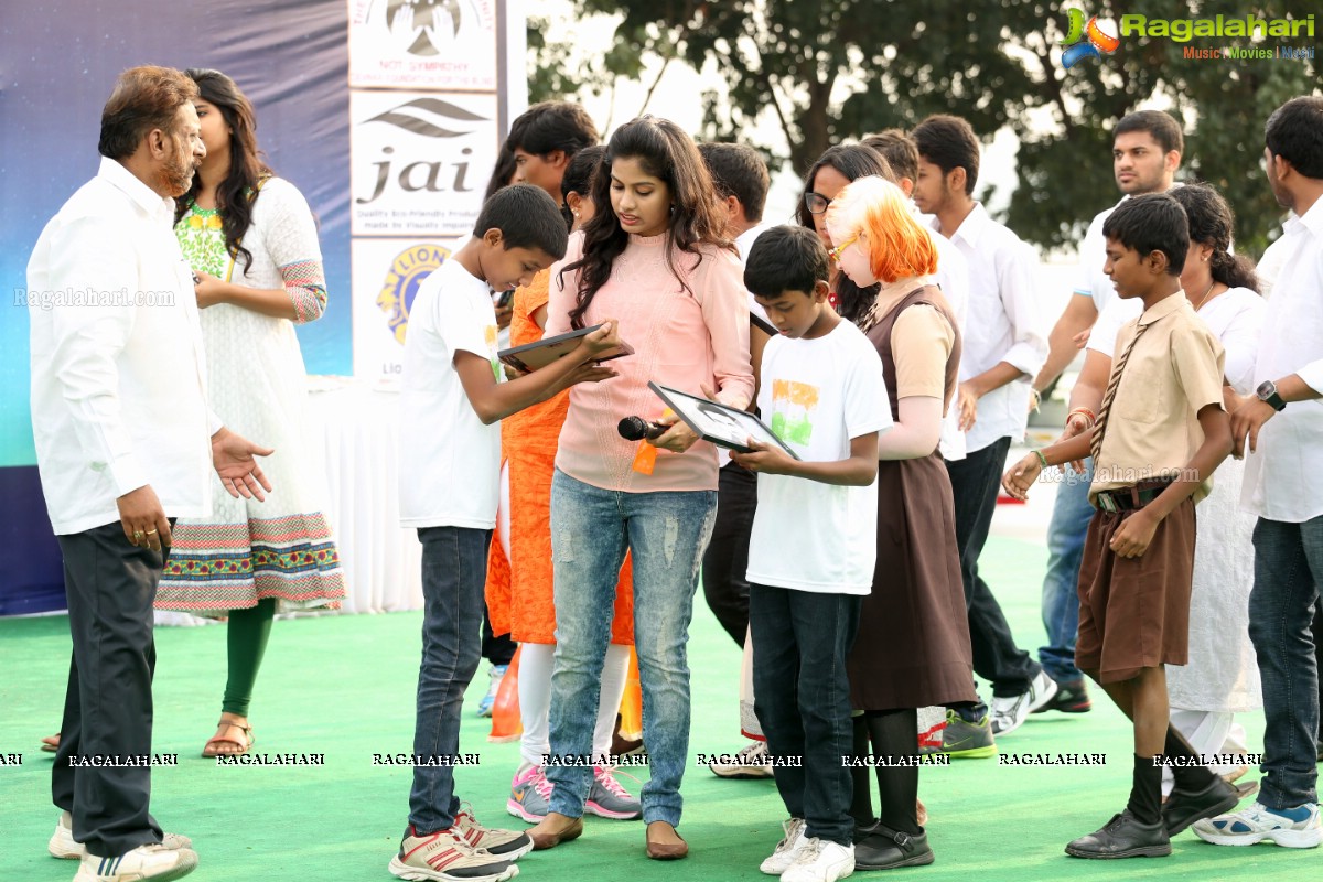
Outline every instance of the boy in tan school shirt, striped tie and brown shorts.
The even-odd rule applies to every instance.
[[[1163,668],[1185,664],[1195,502],[1232,450],[1230,422],[1222,346],[1180,288],[1184,209],[1164,194],[1139,196],[1111,213],[1103,235],[1103,271],[1121,298],[1142,299],[1144,312],[1117,337],[1091,435],[1028,454],[1003,484],[1024,499],[1048,465],[1093,456],[1097,512],[1080,569],[1076,664],[1134,723],[1134,783],[1126,809],[1066,854],[1160,857],[1171,854],[1171,836],[1237,801],[1171,729]],[[1164,764],[1176,776],[1166,805]]]

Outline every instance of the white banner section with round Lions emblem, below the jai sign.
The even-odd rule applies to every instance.
[[[418,284],[446,261],[463,238],[353,239],[353,373],[398,380],[409,309]]]

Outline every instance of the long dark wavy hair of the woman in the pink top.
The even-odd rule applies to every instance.
[[[725,237],[726,218],[720,210],[712,175],[704,165],[693,139],[669,119],[639,116],[620,126],[607,144],[603,168],[593,180],[593,205],[597,213],[583,225],[583,257],[565,270],[578,270],[578,300],[570,311],[570,327],[585,327],[583,315],[593,298],[611,278],[630,234],[611,206],[610,167],[618,159],[634,159],[648,175],[665,181],[673,209],[667,227],[667,267],[688,290],[675,267],[675,253],[685,251],[703,259],[700,245],[716,245],[734,251]]]

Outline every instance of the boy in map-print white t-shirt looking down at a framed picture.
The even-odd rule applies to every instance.
[[[754,452],[734,455],[758,473],[747,575],[754,707],[790,812],[761,869],[785,882],[855,870],[845,656],[872,590],[877,436],[892,427],[881,358],[828,304],[827,274],[822,242],[800,226],[758,237],[745,268],[745,287],[781,332],[763,350],[758,407],[799,456],[751,439]]]

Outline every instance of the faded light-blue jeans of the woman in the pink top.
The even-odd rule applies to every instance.
[[[643,820],[650,824],[680,824],[680,780],[689,755],[689,619],[716,510],[716,491],[622,493],[574,480],[560,469],[552,477],[552,754],[582,762],[593,752],[615,586],[630,550],[643,743],[652,767],[642,795]],[[554,785],[552,811],[581,816],[593,784],[591,768],[548,766],[546,779]]]

